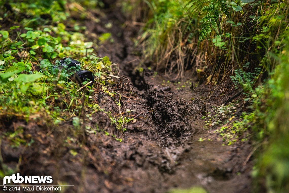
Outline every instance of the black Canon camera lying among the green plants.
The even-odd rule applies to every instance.
[[[94,77],[91,71],[88,70],[81,70],[80,62],[77,60],[74,60],[72,58],[66,58],[64,57],[63,60],[60,60],[60,67],[64,69],[68,75],[70,76],[70,79],[79,83],[81,86],[84,85],[84,82],[89,83],[89,85],[92,86],[94,83]]]

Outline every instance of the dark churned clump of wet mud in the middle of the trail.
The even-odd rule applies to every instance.
[[[190,128],[184,123],[188,106],[184,101],[173,100],[175,94],[169,91],[169,87],[153,88],[147,97],[147,103],[153,109],[153,123],[164,146],[180,145],[190,136]]]

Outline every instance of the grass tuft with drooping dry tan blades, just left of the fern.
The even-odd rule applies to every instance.
[[[145,1],[150,8],[151,18],[143,27],[138,40],[142,45],[144,57],[156,62],[156,68],[166,68],[171,73],[175,68],[184,68],[184,39],[194,42],[194,19],[190,19],[184,10],[184,0]],[[185,50],[184,50],[185,49]],[[175,56],[174,58],[172,56]],[[169,62],[169,59],[173,60]],[[183,71],[183,70],[182,70]],[[181,72],[179,75],[183,75]]]

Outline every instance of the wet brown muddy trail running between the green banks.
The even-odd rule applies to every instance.
[[[139,27],[127,21],[119,10],[114,6],[103,9],[105,15],[100,23],[85,21],[85,25],[89,38],[93,34],[112,34],[114,42],[99,46],[97,54],[108,56],[119,65],[118,76],[123,77],[120,84],[132,83],[126,88],[133,89],[135,95],[127,89],[119,93],[121,112],[135,110],[133,114],[139,115],[136,122],[127,123],[127,131],[121,132],[102,111],[92,114],[91,121],[77,131],[72,120],[59,127],[36,121],[27,124],[17,119],[1,120],[2,132],[21,127],[24,136],[34,139],[30,146],[15,148],[3,138],[1,162],[19,168],[23,176],[50,175],[55,185],[73,185],[63,186],[61,192],[164,193],[195,185],[211,193],[250,192],[250,143],[224,146],[216,133],[204,129],[201,119],[211,111],[212,104],[221,104],[234,93],[225,97],[216,93],[208,99],[209,85],[190,89],[190,70],[186,72],[188,79],[176,84],[174,75],[165,77],[146,65],[140,66],[140,56],[132,41]],[[112,23],[110,29],[103,27],[108,22]],[[143,70],[138,70],[140,67]],[[114,98],[101,92],[92,96],[105,111],[119,114],[119,96]],[[91,129],[85,129],[86,126]],[[104,132],[95,132],[98,129],[122,142]],[[74,137],[76,132],[78,138]]]

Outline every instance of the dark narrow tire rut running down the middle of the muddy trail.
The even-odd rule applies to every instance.
[[[98,53],[100,57],[107,55],[111,61],[118,63],[121,69],[120,75],[126,75],[131,79],[135,87],[134,90],[138,92],[138,97],[141,97],[141,100],[137,99],[140,100],[138,104],[132,104],[131,109],[142,109],[145,111],[144,114],[150,117],[149,122],[151,123],[147,125],[153,126],[150,126],[151,131],[149,134],[144,134],[151,136],[152,140],[156,140],[158,146],[164,149],[162,153],[165,155],[163,156],[165,160],[162,160],[162,162],[174,163],[177,156],[171,154],[181,154],[186,149],[184,142],[192,136],[193,128],[188,124],[188,117],[191,112],[188,112],[188,109],[190,111],[194,110],[186,102],[178,99],[177,95],[170,91],[170,87],[161,88],[158,86],[160,82],[150,83],[149,79],[152,77],[153,71],[144,68],[144,72],[140,73],[136,70],[140,64],[140,59],[138,56],[132,54],[135,52],[135,47],[131,39],[136,37],[139,28],[129,24],[129,22],[125,22],[125,18],[120,12],[108,11],[107,13],[107,17],[101,21],[103,24],[100,26],[111,22],[113,23],[111,29],[102,28],[102,30],[99,30],[99,27],[90,27],[92,32],[109,32],[114,39],[114,43],[100,46]],[[126,23],[125,28],[121,27],[123,26],[122,23]],[[94,25],[88,24],[87,26]],[[105,46],[105,49],[101,49],[103,46]],[[110,103],[110,106],[115,105]],[[146,127],[146,125],[143,127]],[[140,130],[143,131],[143,129],[136,127],[128,132],[140,134],[142,132]],[[173,152],[169,152],[168,149],[171,149]],[[175,151],[176,149],[178,150]],[[155,164],[155,162],[151,163]],[[172,166],[168,166],[167,168],[172,168]],[[170,170],[169,172],[171,172]]]

